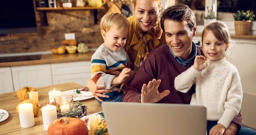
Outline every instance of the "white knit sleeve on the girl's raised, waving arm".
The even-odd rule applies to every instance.
[[[191,66],[186,71],[182,72],[180,75],[175,77],[174,87],[177,91],[182,93],[187,93],[188,90],[193,86],[196,82],[196,76],[199,74],[194,66]]]

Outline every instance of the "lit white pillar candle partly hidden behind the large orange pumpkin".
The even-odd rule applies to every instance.
[[[48,130],[49,125],[57,119],[57,110],[55,106],[48,105],[42,108],[44,130]]]

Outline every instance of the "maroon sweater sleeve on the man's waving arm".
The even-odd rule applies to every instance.
[[[132,83],[124,93],[123,102],[139,102],[142,85],[144,83],[148,84],[152,79],[154,79],[154,69],[149,58],[147,58],[134,75]]]

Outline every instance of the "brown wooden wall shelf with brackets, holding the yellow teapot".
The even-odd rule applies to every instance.
[[[47,21],[47,11],[63,11],[63,10],[93,10],[94,13],[94,24],[97,24],[97,10],[105,9],[104,7],[58,7],[58,8],[50,8],[50,7],[37,7],[37,11],[42,11],[44,15],[44,25],[48,26]]]

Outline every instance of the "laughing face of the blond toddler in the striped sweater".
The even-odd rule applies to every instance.
[[[124,31],[116,28],[110,28],[110,30],[107,32],[102,30],[102,37],[104,39],[105,46],[114,52],[118,51],[121,47],[124,46],[126,43],[127,35],[128,28]]]

